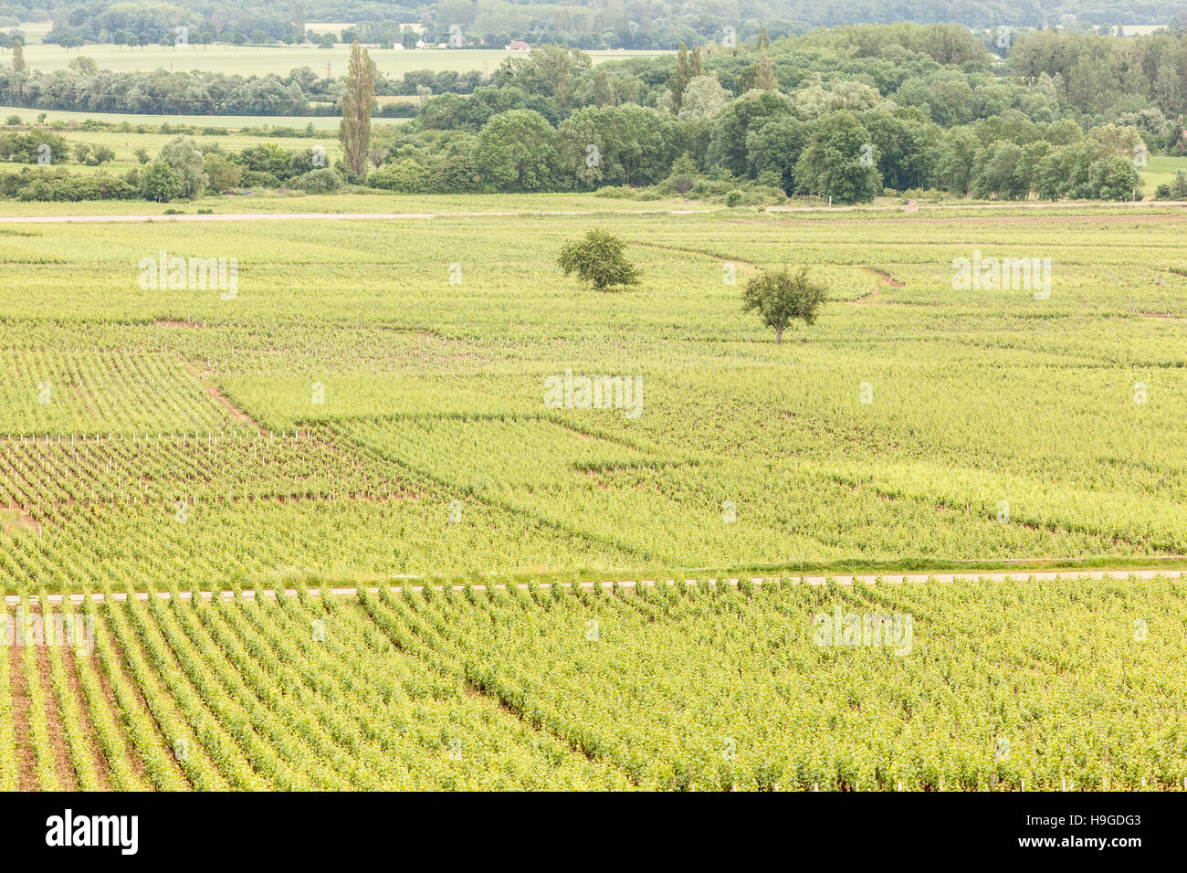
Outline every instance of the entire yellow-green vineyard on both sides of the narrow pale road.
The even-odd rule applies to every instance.
[[[1182,578],[792,581],[1187,564],[1181,211],[482,203],[0,224],[0,787],[1185,787]]]

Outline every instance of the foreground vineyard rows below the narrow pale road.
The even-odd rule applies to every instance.
[[[94,633],[0,660],[4,787],[1187,785],[1180,578],[104,594],[7,614]]]

